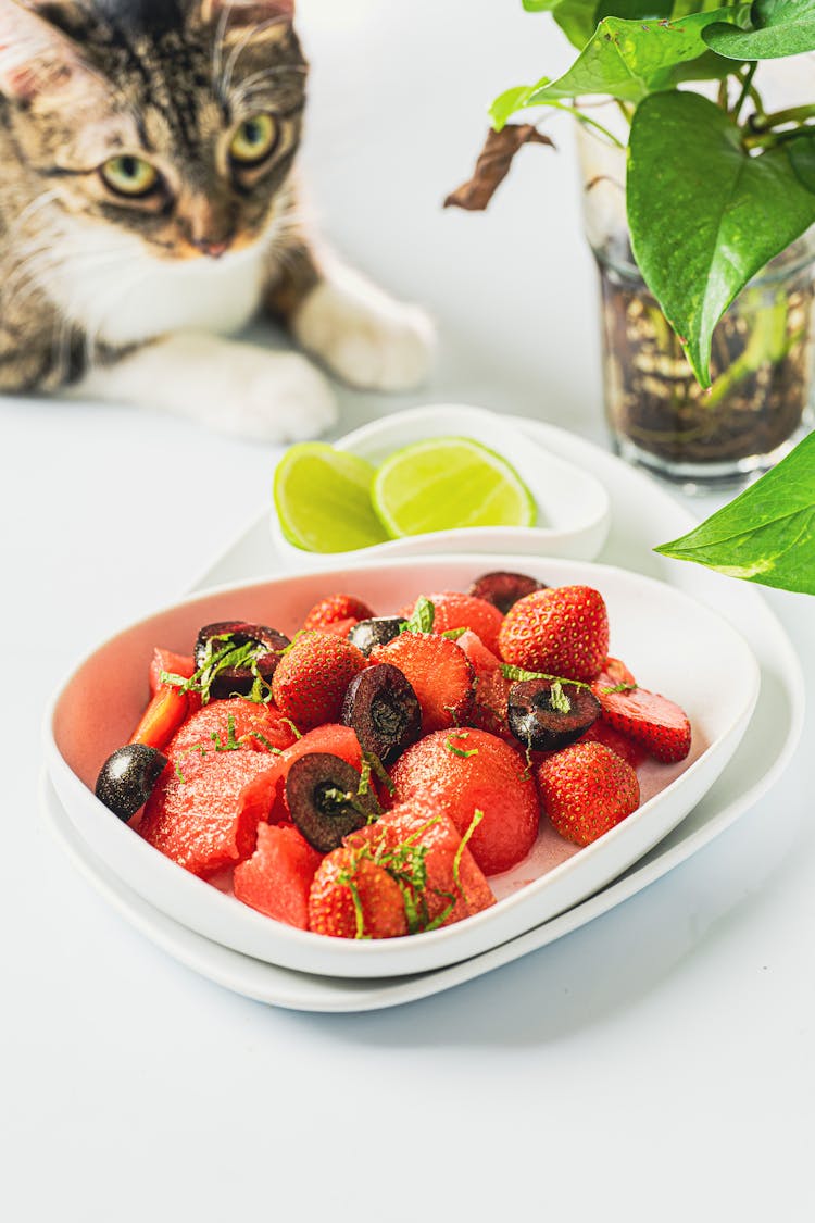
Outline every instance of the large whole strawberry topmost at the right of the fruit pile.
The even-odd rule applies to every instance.
[[[505,663],[545,675],[590,681],[609,653],[609,615],[590,586],[556,586],[519,599],[499,634]]]

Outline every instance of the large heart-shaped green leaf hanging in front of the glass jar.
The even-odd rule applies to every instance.
[[[716,323],[744,285],[815,221],[783,146],[750,157],[726,111],[695,93],[637,109],[628,157],[634,257],[703,386]]]

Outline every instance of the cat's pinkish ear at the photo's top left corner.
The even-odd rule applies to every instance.
[[[17,0],[0,0],[0,94],[32,102],[87,91],[94,79],[67,34]]]

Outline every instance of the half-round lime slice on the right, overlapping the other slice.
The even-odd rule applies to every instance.
[[[538,506],[517,471],[469,438],[430,438],[385,460],[370,490],[392,538],[459,527],[528,527]]]

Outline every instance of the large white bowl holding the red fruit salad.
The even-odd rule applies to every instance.
[[[243,619],[293,631],[320,597],[340,587],[387,613],[422,592],[466,589],[484,567],[524,567],[550,585],[585,583],[609,607],[611,652],[641,684],[682,704],[694,745],[682,764],[640,770],[643,805],[587,849],[561,840],[546,821],[532,854],[490,882],[491,909],[445,929],[370,942],[294,929],[197,879],[122,824],[93,794],[100,766],[126,742],[148,697],[155,645],[188,652],[202,624]],[[46,723],[46,767],[89,848],[167,916],[224,947],[283,967],[336,977],[386,977],[455,964],[593,895],[648,852],[716,780],[749,723],[759,670],[740,635],[710,608],[651,578],[604,565],[529,556],[379,560],[337,572],[277,577],[185,599],[97,649],[55,697]]]

